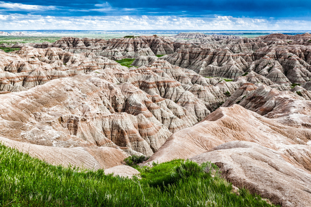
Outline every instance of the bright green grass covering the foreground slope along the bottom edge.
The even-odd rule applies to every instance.
[[[214,164],[183,160],[136,168],[133,179],[53,166],[0,145],[0,206],[271,206],[232,191]]]

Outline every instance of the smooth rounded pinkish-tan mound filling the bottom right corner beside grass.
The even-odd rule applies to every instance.
[[[211,161],[234,186],[269,198],[281,206],[311,206],[311,147],[290,145],[275,151],[253,142],[233,141],[191,158],[198,163]],[[303,157],[306,168],[295,160]],[[309,167],[309,169],[307,169]]]

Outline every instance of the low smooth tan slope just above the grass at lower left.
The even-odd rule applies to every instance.
[[[84,169],[107,169],[123,164],[126,154],[111,147],[100,147],[91,149],[88,147],[53,147],[17,142],[11,139],[0,137],[0,142],[5,146],[16,148],[29,155],[44,160],[49,164],[61,164],[64,167],[69,165]]]

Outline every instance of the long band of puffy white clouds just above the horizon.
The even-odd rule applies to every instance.
[[[310,21],[275,20],[232,16],[41,16],[0,15],[2,30],[70,29],[70,30],[308,30]]]

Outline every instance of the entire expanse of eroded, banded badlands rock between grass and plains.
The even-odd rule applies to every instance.
[[[0,141],[50,164],[128,177],[138,173],[124,165],[131,155],[151,156],[146,165],[211,161],[237,187],[311,206],[310,39],[182,33],[16,44],[0,50]],[[123,58],[133,67],[115,61]]]

